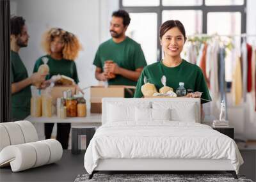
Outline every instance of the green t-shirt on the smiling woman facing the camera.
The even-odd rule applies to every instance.
[[[143,96],[141,86],[144,84],[145,76],[148,82],[154,84],[159,91],[163,87],[161,83],[163,75],[166,77],[166,86],[172,87],[174,92],[179,87],[179,82],[184,82],[186,89],[192,89],[193,92],[203,92],[201,98],[211,100],[202,70],[196,64],[188,63],[184,59],[182,59],[182,63],[179,66],[173,68],[164,66],[163,61],[146,66],[138,80],[134,97],[141,98]],[[205,102],[205,100],[201,100],[201,103]]]

